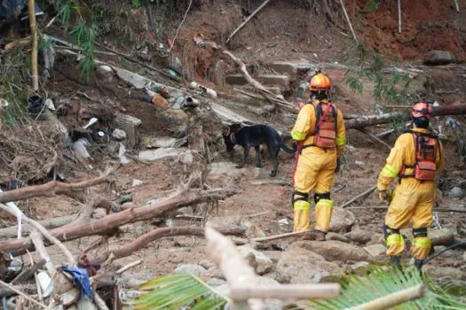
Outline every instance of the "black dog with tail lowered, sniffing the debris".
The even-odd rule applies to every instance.
[[[260,145],[267,145],[270,156],[273,160],[271,176],[275,176],[279,168],[278,154],[280,148],[287,153],[296,152],[296,149],[290,149],[285,145],[285,143],[283,143],[283,139],[281,139],[280,134],[275,129],[266,125],[243,127],[241,124],[233,124],[224,128],[222,135],[224,136],[226,151],[233,151],[235,144],[241,145],[244,149],[242,162],[236,166],[237,168],[244,167],[251,147],[254,147],[256,150],[256,166],[262,167]]]

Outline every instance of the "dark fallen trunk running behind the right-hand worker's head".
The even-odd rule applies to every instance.
[[[466,114],[466,105],[457,104],[457,105],[442,105],[433,109],[433,116],[443,116],[443,115],[462,115]],[[346,129],[359,129],[369,126],[381,125],[391,122],[391,120],[410,120],[409,112],[391,112],[383,113],[382,115],[369,115],[361,116],[354,120],[346,120],[345,127]]]

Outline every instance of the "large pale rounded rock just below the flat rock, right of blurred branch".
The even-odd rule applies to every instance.
[[[320,283],[322,278],[336,275],[339,267],[315,252],[292,247],[281,253],[276,271],[279,283]]]

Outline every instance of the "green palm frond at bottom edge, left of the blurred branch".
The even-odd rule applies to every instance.
[[[146,291],[136,298],[128,309],[221,309],[228,298],[221,296],[191,274],[156,277],[138,287]]]

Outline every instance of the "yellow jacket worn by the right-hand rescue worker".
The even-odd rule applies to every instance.
[[[414,128],[412,129],[415,132],[427,133],[427,129],[423,128]],[[442,170],[445,167],[444,151],[443,144],[438,141],[438,151],[436,154],[436,164],[437,172]],[[390,188],[390,183],[395,179],[401,169],[405,165],[414,165],[415,164],[415,139],[413,134],[405,133],[398,137],[395,146],[390,151],[390,155],[387,158],[387,163],[383,167],[382,172],[379,174],[379,179],[377,182],[378,190],[388,190]],[[407,168],[405,174],[413,174],[414,168]]]

